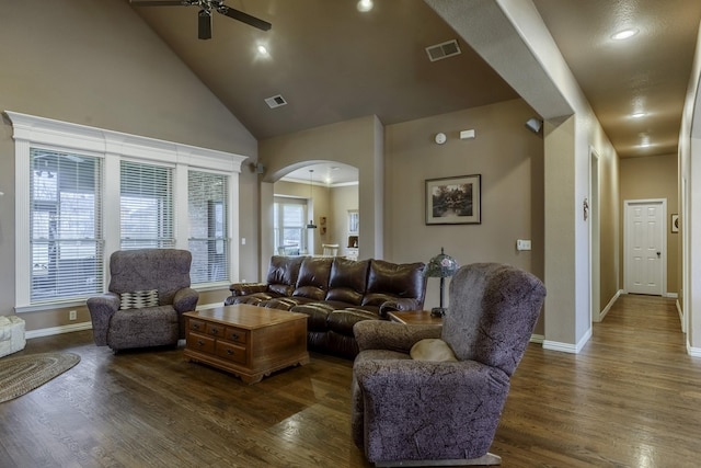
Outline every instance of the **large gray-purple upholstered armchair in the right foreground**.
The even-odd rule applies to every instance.
[[[487,450],[544,297],[532,274],[480,263],[452,277],[443,327],[356,323],[352,430],[368,460],[498,465]],[[424,339],[451,361],[417,355]]]

